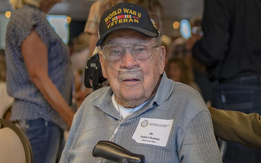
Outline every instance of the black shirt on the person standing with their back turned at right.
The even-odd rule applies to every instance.
[[[211,80],[261,74],[261,1],[205,0],[192,53]]]

